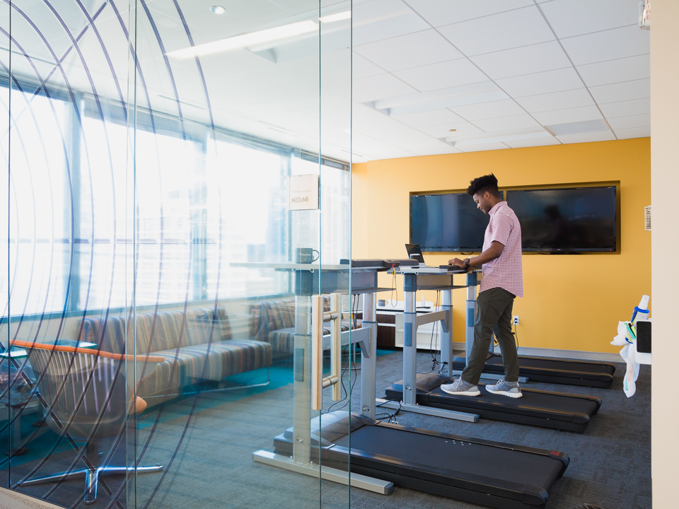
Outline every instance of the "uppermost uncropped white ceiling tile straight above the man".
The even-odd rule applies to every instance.
[[[535,6],[443,26],[439,31],[468,57],[555,40]]]

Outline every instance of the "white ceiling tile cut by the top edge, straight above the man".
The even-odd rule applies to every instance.
[[[451,0],[405,1],[435,27],[533,5],[533,0],[484,0],[455,2],[451,8]]]

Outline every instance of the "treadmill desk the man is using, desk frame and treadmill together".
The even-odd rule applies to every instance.
[[[513,399],[501,394],[491,394],[485,390],[482,390],[479,397],[448,394],[441,390],[442,384],[452,382],[450,375],[454,373],[451,369],[453,367],[451,296],[454,288],[467,288],[468,351],[474,341],[477,274],[468,273],[467,284],[455,286],[453,274],[460,274],[460,272],[462,271],[436,269],[435,267],[401,269],[404,276],[405,294],[403,380],[385,390],[387,399],[378,399],[380,406],[463,421],[476,422],[481,416],[485,419],[584,433],[591,421],[591,416],[596,414],[601,405],[600,399],[596,397],[524,389],[521,399]],[[417,316],[414,312],[414,303],[415,292],[418,290],[443,291],[443,310]],[[441,370],[439,373],[420,373],[418,376],[417,346],[414,340],[417,325],[434,320],[441,320],[443,324]],[[490,378],[488,375],[483,376]],[[501,375],[494,375],[494,378],[501,378]]]

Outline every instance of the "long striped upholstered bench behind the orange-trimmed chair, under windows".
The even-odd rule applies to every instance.
[[[132,353],[132,322],[125,346],[125,317],[83,320],[83,341],[111,353]],[[137,355],[165,358],[138,387],[139,397],[173,397],[182,387],[202,380],[220,381],[231,375],[268,368],[271,346],[265,341],[231,339],[224,308],[193,308],[139,313],[136,319]],[[143,377],[142,377],[143,378]]]

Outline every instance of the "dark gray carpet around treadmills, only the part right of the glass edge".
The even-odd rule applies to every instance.
[[[465,423],[407,413],[397,416],[397,420],[404,426],[566,452],[571,462],[562,479],[552,486],[547,509],[571,509],[580,503],[592,503],[606,509],[651,508],[651,367],[641,367],[637,394],[630,399],[622,392],[623,368],[622,363],[617,365],[610,389],[528,384],[535,389],[599,397],[601,408],[583,434],[486,419]],[[418,369],[422,372],[431,370],[429,353],[418,353]],[[377,373],[378,392],[402,379],[402,354],[395,352],[378,358]],[[356,411],[356,397],[353,399],[352,406]],[[402,488],[397,488],[389,497],[359,490],[352,493],[352,508],[441,507],[478,506]]]

